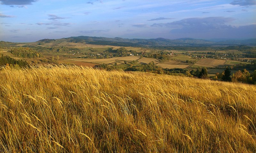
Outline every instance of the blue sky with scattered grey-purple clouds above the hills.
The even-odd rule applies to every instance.
[[[0,41],[256,38],[256,0],[0,0]]]

